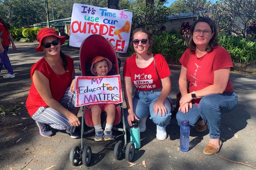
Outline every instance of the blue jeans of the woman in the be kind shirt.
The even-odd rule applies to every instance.
[[[204,96],[198,107],[193,103],[192,109],[185,114],[178,111],[176,120],[179,126],[183,120],[188,120],[190,126],[195,126],[198,121],[204,119],[209,129],[211,139],[220,137],[221,116],[235,110],[238,96],[234,91],[222,94],[210,94]]]

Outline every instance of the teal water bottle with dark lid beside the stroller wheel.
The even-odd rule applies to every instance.
[[[131,142],[134,143],[135,149],[140,148],[140,127],[138,120],[132,121],[132,126],[130,126]]]

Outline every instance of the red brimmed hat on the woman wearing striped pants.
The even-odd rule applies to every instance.
[[[39,32],[37,34],[37,41],[39,42],[39,45],[35,49],[36,51],[39,51],[39,52],[43,51],[42,48],[41,48],[42,39],[47,37],[47,36],[50,36],[50,35],[53,35],[53,36],[59,38],[59,41],[60,41],[61,45],[66,40],[66,36],[58,36],[56,31],[53,28],[42,28],[41,30],[39,30]]]

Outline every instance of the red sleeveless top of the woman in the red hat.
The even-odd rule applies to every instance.
[[[29,95],[26,101],[27,110],[29,112],[29,115],[32,116],[39,107],[45,107],[47,104],[45,101],[41,98],[39,93],[37,92],[37,89],[35,88],[35,85],[33,83],[33,74],[34,71],[37,70],[41,72],[45,77],[48,78],[50,83],[50,89],[53,98],[56,101],[60,101],[60,99],[63,97],[64,93],[66,92],[68,86],[70,85],[72,73],[74,69],[74,61],[69,56],[66,56],[67,59],[67,70],[69,72],[65,72],[63,75],[57,75],[48,62],[43,57],[39,61],[37,61],[32,67],[30,71],[31,79],[32,79],[32,85],[29,89]]]

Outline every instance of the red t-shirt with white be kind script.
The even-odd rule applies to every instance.
[[[189,81],[189,91],[197,91],[213,85],[214,71],[230,67],[233,68],[233,63],[229,52],[217,46],[210,53],[206,53],[203,57],[197,58],[196,54],[190,54],[189,62],[189,49],[187,49],[181,56],[181,64],[187,68],[187,80]],[[234,91],[230,80],[227,82],[227,87],[224,92]],[[201,98],[193,99],[196,105],[200,102]]]

